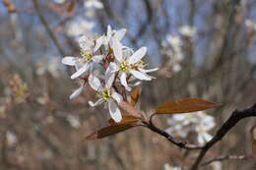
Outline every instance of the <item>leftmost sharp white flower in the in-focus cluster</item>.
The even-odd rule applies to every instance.
[[[94,64],[103,59],[103,55],[96,55],[96,50],[102,45],[101,36],[96,40],[89,36],[82,36],[79,39],[79,44],[82,57],[66,56],[62,59],[63,64],[77,68],[77,72],[71,76],[71,79],[76,79],[88,71],[92,72]]]

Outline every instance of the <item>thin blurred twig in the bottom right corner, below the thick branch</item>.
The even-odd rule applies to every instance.
[[[251,155],[221,155],[221,156],[217,156],[215,158],[212,158],[206,162],[204,162],[202,164],[202,166],[205,166],[205,165],[208,165],[212,162],[215,162],[215,161],[223,161],[223,160],[245,160],[245,159],[248,159],[248,158],[252,158],[254,157],[255,155],[251,154]]]

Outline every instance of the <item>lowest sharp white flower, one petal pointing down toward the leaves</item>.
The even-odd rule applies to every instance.
[[[111,118],[115,122],[120,122],[122,120],[121,111],[119,110],[117,103],[122,101],[122,96],[115,92],[112,88],[114,81],[114,74],[111,74],[109,70],[105,73],[105,85],[104,87],[100,84],[100,81],[93,75],[89,77],[89,85],[92,86],[97,91],[97,96],[99,97],[96,102],[89,101],[92,107],[105,103],[107,105]],[[116,103],[117,102],[117,103]]]

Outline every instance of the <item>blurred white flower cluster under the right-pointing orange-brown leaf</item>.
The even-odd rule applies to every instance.
[[[167,120],[170,126],[166,131],[176,137],[186,138],[189,133],[197,134],[197,141],[201,144],[212,139],[209,131],[216,126],[215,118],[200,111],[173,115]]]

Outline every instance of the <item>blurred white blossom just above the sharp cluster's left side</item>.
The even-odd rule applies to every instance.
[[[94,27],[94,22],[90,22],[82,18],[76,18],[66,24],[65,31],[69,36],[78,37],[82,34],[90,34]]]

